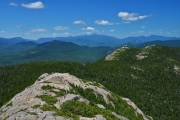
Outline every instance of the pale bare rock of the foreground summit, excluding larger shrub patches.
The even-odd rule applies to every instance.
[[[6,105],[0,108],[0,120],[73,120],[71,117],[65,118],[55,114],[56,110],[61,109],[61,105],[67,101],[79,101],[87,105],[90,103],[88,99],[80,94],[76,94],[74,89],[76,87],[82,90],[91,89],[95,95],[101,95],[106,104],[116,107],[113,101],[109,99],[112,96],[111,92],[106,90],[101,84],[96,86],[94,82],[84,83],[81,79],[68,73],[45,73],[32,86],[15,95]],[[42,109],[42,106],[49,104],[48,101],[43,99],[44,96],[48,96],[50,97],[48,99],[54,101],[49,106],[55,110]],[[127,104],[131,105],[137,114],[141,114],[144,120],[148,120],[132,101],[127,98],[122,99],[127,101]],[[96,105],[99,109],[106,110],[106,107],[101,103]],[[118,119],[128,120],[115,112],[112,112],[112,115],[115,115]],[[93,118],[78,116],[80,120],[106,120],[100,114]]]

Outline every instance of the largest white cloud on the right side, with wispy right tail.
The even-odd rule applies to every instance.
[[[118,17],[123,21],[137,21],[147,18],[148,15],[139,16],[137,13],[119,12]]]

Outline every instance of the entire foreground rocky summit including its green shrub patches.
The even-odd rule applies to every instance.
[[[152,119],[128,98],[68,73],[41,75],[0,109],[0,120]]]

